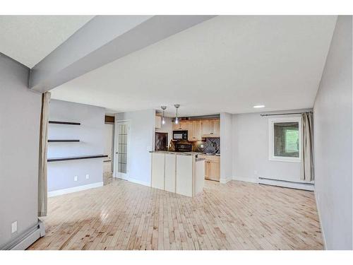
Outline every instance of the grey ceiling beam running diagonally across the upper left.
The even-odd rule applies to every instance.
[[[31,69],[45,92],[215,16],[95,16]]]

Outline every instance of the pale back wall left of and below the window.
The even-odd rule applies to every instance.
[[[301,163],[268,159],[268,117],[261,117],[260,113],[233,114],[232,124],[234,179],[256,182],[258,177],[265,177],[301,181]]]

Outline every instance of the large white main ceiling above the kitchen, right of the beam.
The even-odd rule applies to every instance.
[[[52,90],[115,112],[313,107],[336,16],[217,16]],[[253,105],[265,105],[254,109]]]

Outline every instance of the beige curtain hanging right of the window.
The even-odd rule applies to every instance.
[[[302,143],[301,153],[301,180],[310,182],[314,179],[313,172],[313,113],[304,112],[301,114],[302,122]]]

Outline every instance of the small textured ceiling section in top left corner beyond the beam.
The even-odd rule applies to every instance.
[[[0,16],[0,52],[32,68],[93,16]]]

